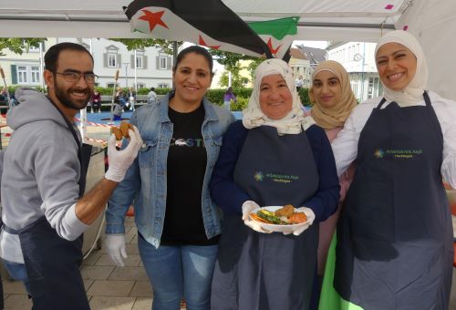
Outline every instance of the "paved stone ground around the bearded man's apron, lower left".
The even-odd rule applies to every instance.
[[[127,217],[125,231],[129,256],[125,267],[117,267],[110,261],[104,240],[101,249],[90,253],[82,265],[81,274],[92,310],[151,308],[152,289],[140,261],[138,231],[132,217]],[[64,276],[62,281],[65,281]],[[29,310],[32,307],[21,283],[4,280],[3,285],[5,310]]]

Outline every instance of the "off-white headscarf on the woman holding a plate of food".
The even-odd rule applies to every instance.
[[[283,119],[269,119],[260,108],[260,85],[264,77],[280,74],[286,86],[290,89],[293,106],[291,111]],[[264,60],[255,70],[254,90],[250,96],[246,109],[243,110],[243,124],[246,129],[253,129],[262,125],[272,126],[277,129],[279,135],[297,134],[302,129],[307,129],[315,124],[314,119],[305,117],[301,109],[301,100],[295,88],[293,71],[285,61],[280,59]]]

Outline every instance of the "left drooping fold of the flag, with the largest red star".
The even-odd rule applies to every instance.
[[[274,57],[264,40],[220,0],[135,0],[124,12],[133,31],[151,37]]]

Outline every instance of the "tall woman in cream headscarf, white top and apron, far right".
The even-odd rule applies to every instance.
[[[453,233],[442,178],[456,186],[456,102],[425,90],[426,58],[408,32],[381,37],[375,57],[384,96],[359,104],[332,144],[338,174],[351,162],[356,172],[330,285],[358,308],[448,309]]]

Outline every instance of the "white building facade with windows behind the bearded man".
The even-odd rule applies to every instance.
[[[172,56],[161,49],[147,47],[129,51],[122,43],[105,38],[47,38],[40,48],[30,48],[22,55],[8,49],[0,56],[7,85],[45,87],[43,81],[44,55],[49,47],[60,42],[74,42],[86,47],[94,58],[97,86],[122,88],[171,88]],[[119,78],[115,81],[116,71]]]

